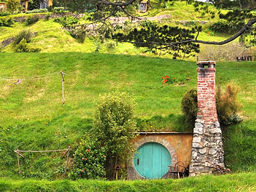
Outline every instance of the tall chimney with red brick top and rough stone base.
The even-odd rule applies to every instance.
[[[190,176],[210,174],[225,167],[222,132],[217,118],[214,61],[201,61],[198,68],[198,113],[193,130]]]

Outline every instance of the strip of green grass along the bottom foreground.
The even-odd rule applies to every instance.
[[[1,191],[255,191],[255,173],[205,175],[180,180],[9,180],[0,179]],[[224,182],[225,181],[225,182]]]

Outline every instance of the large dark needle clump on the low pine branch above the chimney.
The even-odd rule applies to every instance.
[[[131,42],[136,47],[147,47],[151,52],[161,52],[161,54],[172,54],[175,58],[182,57],[182,53],[189,57],[195,52],[199,52],[199,44],[172,44],[176,41],[193,39],[193,33],[201,31],[201,26],[186,29],[161,25],[158,23],[141,23],[138,27],[133,27],[127,32],[126,29],[114,33],[113,39],[120,42]]]

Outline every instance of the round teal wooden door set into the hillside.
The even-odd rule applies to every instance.
[[[133,156],[136,172],[146,179],[158,179],[168,172],[171,155],[160,143],[145,143]]]

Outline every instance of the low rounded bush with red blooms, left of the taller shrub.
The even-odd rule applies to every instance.
[[[73,180],[80,178],[101,179],[106,172],[104,164],[106,151],[94,135],[87,134],[74,152],[73,168],[69,177]]]

